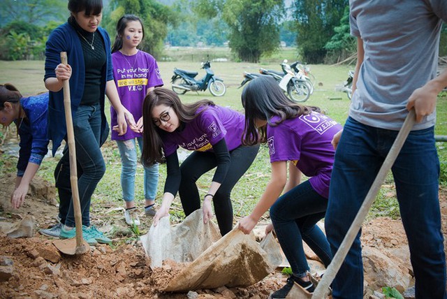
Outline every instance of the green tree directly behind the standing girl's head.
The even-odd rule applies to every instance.
[[[145,27],[145,37],[140,48],[156,58],[161,56],[168,24],[175,23],[175,15],[168,6],[155,0],[112,0],[109,10],[105,13],[104,24],[111,36],[116,35],[115,28],[120,17],[126,13],[137,15]]]

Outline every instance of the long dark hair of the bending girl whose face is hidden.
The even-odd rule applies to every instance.
[[[267,142],[267,126],[256,128],[256,119],[266,120],[270,126],[277,126],[284,119],[320,111],[317,107],[300,105],[288,99],[278,83],[270,76],[260,76],[251,80],[242,91],[241,99],[245,109],[245,127],[242,135],[244,145]],[[275,115],[280,119],[277,122],[270,122]]]

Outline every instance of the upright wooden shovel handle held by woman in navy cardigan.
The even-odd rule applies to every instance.
[[[61,52],[61,63],[68,64],[66,52]],[[68,80],[64,80],[63,84],[64,84],[65,122],[66,122],[67,137],[68,137],[68,154],[70,157],[71,196],[73,198],[73,208],[75,211],[76,247],[81,247],[82,246],[82,217],[81,217],[81,205],[80,205],[80,199],[79,199],[79,190],[78,190],[78,166],[76,164],[75,133],[73,131],[73,118],[71,116],[70,83],[68,82]]]

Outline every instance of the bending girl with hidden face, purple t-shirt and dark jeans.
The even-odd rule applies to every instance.
[[[270,207],[270,218],[293,275],[271,298],[286,298],[297,282],[312,293],[304,240],[328,266],[332,260],[328,240],[316,223],[325,215],[334,152],[332,137],[342,126],[288,99],[270,77],[252,80],[242,92],[245,108],[244,143],[267,143],[272,175],[253,212],[239,228],[250,233]],[[288,175],[287,180],[287,164]],[[309,180],[301,182],[302,174]],[[281,193],[284,194],[281,196]],[[269,226],[266,231],[271,231]]]

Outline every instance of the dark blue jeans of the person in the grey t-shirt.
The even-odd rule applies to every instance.
[[[362,205],[397,131],[349,118],[335,153],[325,231],[335,254]],[[446,258],[439,210],[439,159],[434,128],[411,131],[392,168],[409,241],[416,298],[447,298]],[[360,233],[332,284],[333,298],[362,298]]]

